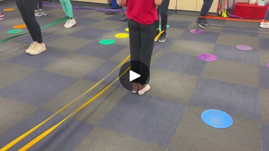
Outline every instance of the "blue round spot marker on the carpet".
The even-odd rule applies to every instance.
[[[202,113],[201,117],[206,124],[218,129],[229,128],[233,123],[232,118],[220,110],[206,110]]]

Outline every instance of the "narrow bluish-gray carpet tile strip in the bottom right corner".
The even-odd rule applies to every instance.
[[[262,151],[269,150],[269,123],[262,124],[261,131],[261,139],[262,139]]]

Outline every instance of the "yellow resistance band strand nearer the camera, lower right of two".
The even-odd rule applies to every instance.
[[[96,98],[98,98],[102,93],[104,93],[111,85],[113,85],[120,77],[122,77],[127,71],[129,71],[131,69],[131,67],[129,66],[114,82],[112,82],[111,84],[109,84],[107,87],[105,87],[103,90],[101,90],[99,93],[97,93],[93,98],[91,98],[89,101],[87,101],[86,103],[84,103],[82,106],[80,106],[75,112],[73,112],[72,114],[70,114],[68,117],[64,118],[62,121],[60,121],[58,124],[54,125],[53,127],[51,127],[50,129],[48,129],[47,131],[43,132],[42,134],[40,134],[39,136],[37,136],[35,139],[33,139],[31,142],[29,142],[28,144],[26,144],[25,146],[23,146],[21,149],[19,149],[19,151],[26,151],[28,150],[30,147],[32,147],[33,145],[35,145],[36,143],[38,143],[38,141],[40,141],[41,139],[43,139],[44,137],[46,137],[48,134],[50,134],[52,131],[54,131],[58,126],[60,126],[64,121],[66,121],[69,117],[71,117],[72,115],[76,114],[78,111],[80,111],[81,109],[83,109],[84,107],[86,107],[88,104],[90,104],[92,101],[96,100]]]

